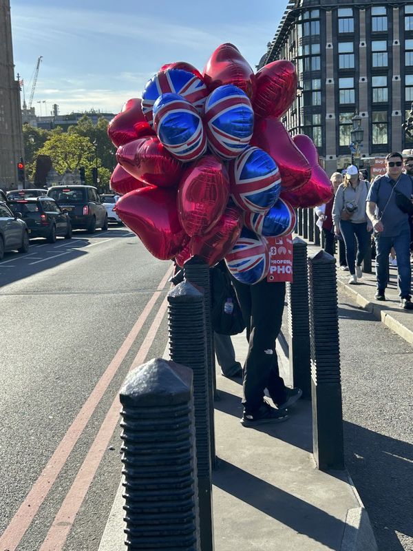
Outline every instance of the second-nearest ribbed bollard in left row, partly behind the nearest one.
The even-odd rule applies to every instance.
[[[204,295],[185,280],[168,293],[171,360],[193,371],[195,439],[202,551],[213,550],[211,486],[211,403],[207,377]]]

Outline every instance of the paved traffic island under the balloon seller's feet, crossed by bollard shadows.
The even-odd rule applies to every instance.
[[[237,360],[246,339],[233,337]],[[278,345],[281,371],[291,384],[288,358]],[[218,368],[219,370],[219,368]],[[213,472],[215,551],[374,551],[370,520],[347,472],[315,468],[311,404],[300,400],[287,422],[260,429],[240,424],[240,383],[217,375]],[[119,486],[99,551],[125,549]]]

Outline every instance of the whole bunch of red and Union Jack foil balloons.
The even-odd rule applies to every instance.
[[[202,72],[163,65],[125,103],[108,127],[118,148],[111,184],[123,194],[118,216],[153,256],[225,258],[241,282],[266,277],[267,238],[293,230],[295,207],[332,197],[313,142],[279,120],[296,92],[290,61],[254,74],[226,43]]]

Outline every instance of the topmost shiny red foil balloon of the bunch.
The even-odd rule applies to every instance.
[[[204,67],[204,83],[209,90],[224,84],[233,84],[252,99],[255,93],[255,74],[248,61],[233,44],[221,44]]]

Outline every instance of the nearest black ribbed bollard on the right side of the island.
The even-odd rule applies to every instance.
[[[308,258],[313,455],[321,470],[343,469],[339,319],[335,258]]]

